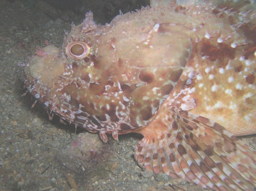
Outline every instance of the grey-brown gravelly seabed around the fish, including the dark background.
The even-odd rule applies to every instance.
[[[86,11],[105,24],[148,0],[0,0],[0,191],[4,190],[204,190],[182,179],[144,172],[133,157],[140,135],[109,136],[103,143],[43,107],[25,92],[23,67],[47,41],[61,46],[64,30]],[[47,41],[45,41],[47,40]],[[255,136],[242,137],[256,148]]]

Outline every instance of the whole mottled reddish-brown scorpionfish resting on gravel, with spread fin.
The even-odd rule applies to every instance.
[[[87,12],[63,46],[37,51],[27,92],[52,119],[140,133],[138,164],[212,190],[255,190],[254,1],[151,0],[109,24]]]

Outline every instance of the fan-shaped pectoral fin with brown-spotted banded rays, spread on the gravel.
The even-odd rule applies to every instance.
[[[164,114],[139,132],[144,138],[135,158],[141,167],[207,189],[256,189],[256,152],[247,144],[202,116],[174,107]]]

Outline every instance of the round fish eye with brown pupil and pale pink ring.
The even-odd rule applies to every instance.
[[[72,41],[66,46],[67,55],[75,60],[84,59],[89,55],[91,48],[85,42]]]

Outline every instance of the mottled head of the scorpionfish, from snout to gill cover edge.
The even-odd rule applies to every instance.
[[[175,24],[129,17],[101,26],[87,13],[66,33],[62,49],[46,46],[30,60],[29,92],[86,129],[127,132],[147,125],[180,78],[192,41]]]

